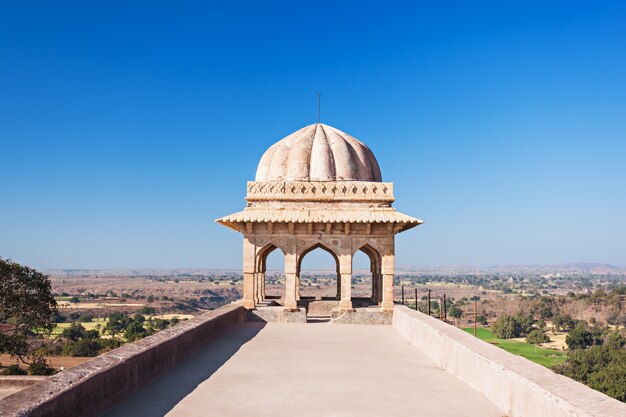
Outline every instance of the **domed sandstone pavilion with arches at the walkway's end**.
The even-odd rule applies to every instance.
[[[383,182],[372,151],[334,127],[316,123],[272,145],[248,182],[246,207],[216,220],[243,234],[243,305],[265,299],[267,256],[285,260],[284,308],[300,299],[300,266],[312,250],[329,252],[337,266],[340,311],[351,311],[352,259],[370,259],[371,301],[393,310],[394,238],[422,222],[399,213],[393,183]]]

